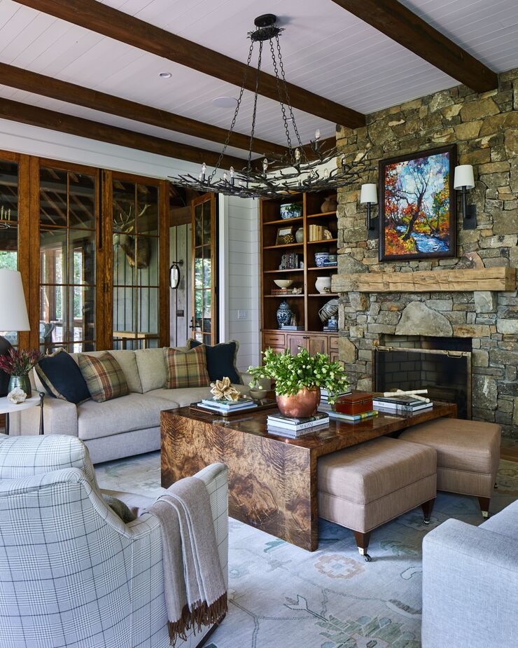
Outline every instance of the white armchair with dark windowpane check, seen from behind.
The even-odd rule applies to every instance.
[[[227,469],[197,477],[226,578]],[[2,648],[169,647],[160,524],[113,513],[73,436],[0,434],[0,610]],[[176,645],[192,648],[204,634]]]

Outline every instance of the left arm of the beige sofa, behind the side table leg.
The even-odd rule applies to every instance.
[[[69,401],[45,396],[43,403],[45,434],[78,436],[77,407]],[[9,417],[9,434],[39,434],[40,408],[31,407]]]

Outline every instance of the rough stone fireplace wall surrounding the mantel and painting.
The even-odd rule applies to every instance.
[[[377,182],[380,159],[450,143],[459,164],[474,166],[468,203],[477,206],[477,229],[463,230],[458,210],[456,258],[380,263],[378,240],[367,240],[360,185]],[[337,130],[337,144],[348,156],[367,151],[373,166],[338,192],[339,274],[518,266],[518,69],[482,95],[458,85],[372,113],[365,127]],[[372,346],[384,333],[470,338],[473,418],[500,422],[505,436],[518,439],[516,290],[350,292],[339,303],[339,357],[353,386],[371,389]]]

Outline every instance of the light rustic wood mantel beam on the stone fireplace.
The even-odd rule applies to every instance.
[[[332,277],[334,293],[424,293],[510,291],[516,288],[515,268],[427,270],[416,273],[354,273]]]

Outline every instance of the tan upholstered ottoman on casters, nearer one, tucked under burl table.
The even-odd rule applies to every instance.
[[[382,436],[318,459],[318,515],[353,530],[367,553],[370,532],[423,506],[430,521],[436,495],[433,448]]]

